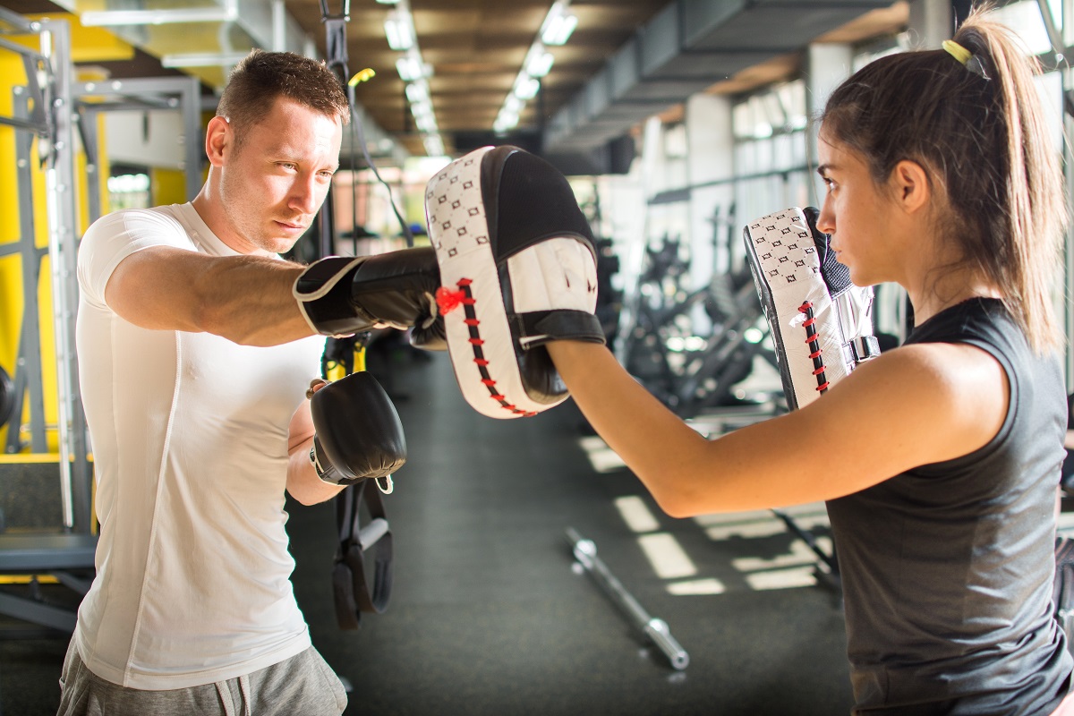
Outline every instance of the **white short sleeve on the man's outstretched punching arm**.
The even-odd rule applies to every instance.
[[[154,209],[127,209],[101,217],[78,245],[78,288],[83,298],[104,306],[104,287],[119,262],[153,246],[195,250],[182,224]]]

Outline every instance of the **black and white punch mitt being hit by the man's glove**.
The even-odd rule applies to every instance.
[[[593,236],[567,179],[518,147],[483,147],[430,179],[425,214],[463,397],[491,418],[563,403],[542,346],[605,342]]]

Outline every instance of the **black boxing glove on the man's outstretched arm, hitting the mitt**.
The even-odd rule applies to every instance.
[[[413,327],[411,344],[444,350],[444,321],[434,298],[439,286],[436,254],[421,247],[321,259],[299,276],[293,293],[306,322],[321,335]]]

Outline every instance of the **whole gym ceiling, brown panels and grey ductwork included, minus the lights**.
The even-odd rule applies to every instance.
[[[93,63],[117,78],[176,73],[163,69],[158,59],[176,47],[220,53],[220,45],[227,44],[234,54],[248,46],[271,46],[263,31],[267,24],[262,21],[259,28],[257,21],[271,3],[59,0],[57,5],[45,0],[0,0],[23,14],[67,9],[79,15],[132,9],[174,12],[229,2],[238,11],[231,23],[117,28],[116,34],[137,48],[135,58]],[[343,10],[340,0],[326,4],[330,14]],[[614,171],[613,150],[647,117],[673,116],[698,91],[736,93],[793,76],[799,71],[801,50],[811,42],[860,42],[904,27],[909,15],[902,0],[568,1],[577,28],[565,45],[547,46],[554,58],[551,72],[520,112],[518,128],[506,136],[496,135],[493,122],[551,4],[551,0],[409,0],[417,43],[432,70],[429,90],[448,154],[511,142],[568,157],[578,169],[568,173]],[[313,41],[326,56],[320,0],[285,0],[282,6],[288,48]],[[407,154],[423,155],[406,84],[395,70],[401,54],[386,39],[384,20],[391,11],[391,4],[375,0],[349,2],[349,20],[343,26],[348,70],[353,74],[369,68],[376,73],[354,89],[369,123],[366,136],[390,137]],[[201,77],[208,90],[222,84],[227,69],[187,72]]]

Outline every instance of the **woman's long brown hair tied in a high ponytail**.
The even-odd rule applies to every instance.
[[[1059,152],[1041,108],[1036,61],[976,9],[945,49],[880,58],[843,83],[823,133],[860,152],[883,186],[902,160],[928,172],[948,210],[939,229],[999,287],[1037,353],[1062,342],[1051,291],[1068,210]],[[941,267],[942,268],[942,267]]]

